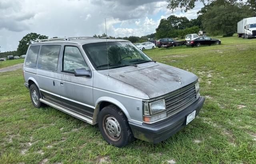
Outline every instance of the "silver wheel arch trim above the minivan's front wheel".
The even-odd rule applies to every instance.
[[[126,110],[124,105],[122,105],[122,103],[120,103],[120,101],[118,101],[114,98],[111,98],[111,97],[100,97],[95,103],[92,124],[98,123],[98,114],[100,113],[100,110],[108,105],[116,105],[124,113],[126,118],[130,119],[130,115],[129,115],[128,111]]]

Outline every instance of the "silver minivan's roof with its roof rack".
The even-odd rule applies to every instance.
[[[127,41],[128,40],[122,40],[122,39],[107,39],[108,42],[110,41]],[[106,42],[106,38],[56,38],[56,39],[46,39],[46,40],[38,40],[35,43],[32,43],[31,45],[35,44],[49,44],[49,43],[75,43],[84,45],[87,43],[98,43],[98,42]]]

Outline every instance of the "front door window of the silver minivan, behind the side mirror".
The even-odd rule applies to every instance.
[[[68,73],[74,73],[74,70],[79,68],[89,70],[78,47],[73,46],[65,46],[62,65],[63,71]]]

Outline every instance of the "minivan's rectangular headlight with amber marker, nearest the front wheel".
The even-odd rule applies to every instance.
[[[154,123],[167,117],[165,100],[157,100],[151,103],[144,103],[143,121],[146,123]]]

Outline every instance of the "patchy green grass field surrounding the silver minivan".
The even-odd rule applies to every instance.
[[[145,51],[196,74],[206,101],[169,139],[108,145],[98,126],[52,107],[36,109],[22,70],[0,73],[0,163],[256,163],[256,39]]]

